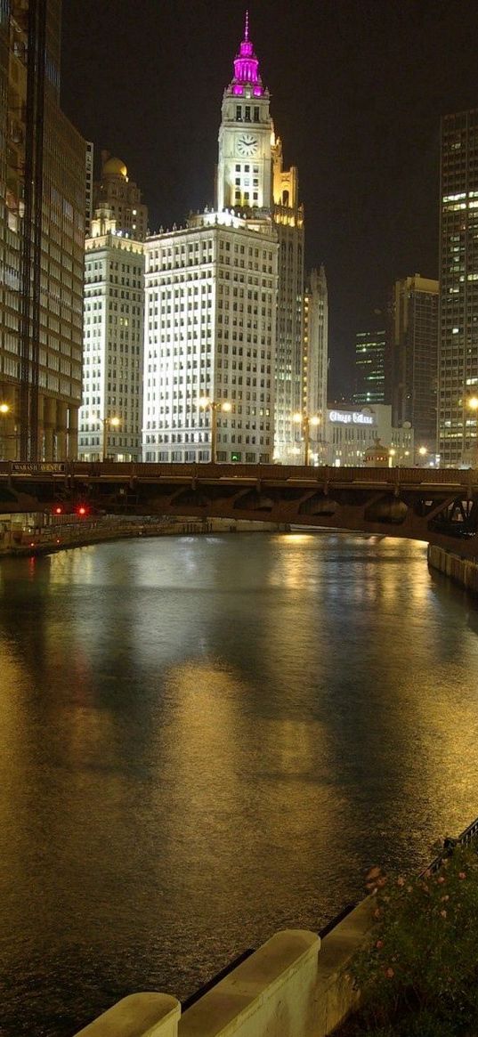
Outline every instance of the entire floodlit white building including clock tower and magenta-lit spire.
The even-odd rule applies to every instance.
[[[246,22],[222,105],[217,211],[146,242],[144,460],[209,460],[213,432],[219,461],[273,459],[280,234],[273,146],[269,91]],[[286,296],[288,305],[288,288]],[[201,408],[201,397],[217,410]]]

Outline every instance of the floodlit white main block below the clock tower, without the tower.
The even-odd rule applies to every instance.
[[[144,460],[272,460],[277,250],[227,213],[146,241]]]

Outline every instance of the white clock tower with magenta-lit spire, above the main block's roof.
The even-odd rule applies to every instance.
[[[249,39],[246,15],[244,39],[234,58],[234,75],[224,91],[219,131],[217,208],[271,211],[273,123],[270,94],[262,86],[259,62]]]

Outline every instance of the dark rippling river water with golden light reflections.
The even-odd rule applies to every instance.
[[[317,928],[478,814],[478,609],[418,542],[0,562],[0,1033]]]

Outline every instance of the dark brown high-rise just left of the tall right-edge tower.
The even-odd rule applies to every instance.
[[[437,453],[439,282],[404,277],[392,293],[390,363],[392,420],[410,422],[418,446]]]

